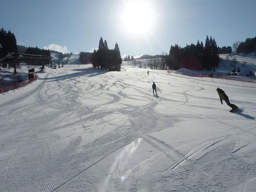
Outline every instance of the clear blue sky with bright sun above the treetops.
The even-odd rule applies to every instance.
[[[118,42],[121,55],[135,56],[205,42],[206,35],[218,46],[256,36],[256,1],[0,0],[0,8],[0,28],[11,30],[19,45],[63,52],[92,51],[101,36],[109,48]]]

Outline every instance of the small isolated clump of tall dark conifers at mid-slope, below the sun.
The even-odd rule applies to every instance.
[[[122,58],[120,50],[116,42],[114,49],[108,49],[108,43],[102,37],[100,38],[99,48],[97,51],[94,49],[92,54],[92,66],[100,68],[101,70],[116,70],[120,71]]]

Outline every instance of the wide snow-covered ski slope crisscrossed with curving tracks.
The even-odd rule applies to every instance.
[[[256,88],[123,67],[0,95],[0,191],[256,191]]]

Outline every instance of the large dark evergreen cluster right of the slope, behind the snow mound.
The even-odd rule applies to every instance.
[[[215,70],[220,62],[219,50],[212,36],[206,36],[205,44],[197,41],[197,44],[186,45],[181,48],[178,44],[171,46],[167,65],[169,68],[178,70],[186,68],[190,70]]]

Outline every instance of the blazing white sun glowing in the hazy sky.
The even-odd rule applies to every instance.
[[[146,2],[129,2],[126,4],[123,20],[128,32],[145,33],[149,31],[152,25],[150,6]]]

